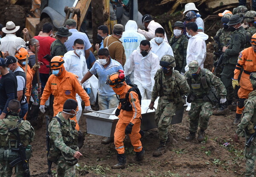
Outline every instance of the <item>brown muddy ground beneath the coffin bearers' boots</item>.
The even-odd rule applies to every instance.
[[[235,112],[231,112],[229,116],[211,116],[205,141],[186,142],[184,139],[189,133],[189,120],[185,111],[183,122],[169,127],[167,151],[162,156],[152,157],[159,145],[158,130],[145,131],[145,136],[141,139],[145,148],[143,162],[134,160],[133,147],[129,138],[126,138],[128,166],[124,170],[111,169],[111,165],[117,162],[113,143],[102,145],[100,142],[104,137],[86,134],[81,148],[83,157],[79,159],[76,174],[78,177],[241,177],[245,171],[244,139],[239,142],[232,139],[236,130],[233,125],[234,117]],[[86,131],[86,117],[81,117],[79,123],[81,130]],[[35,133],[30,171],[32,176],[46,177],[45,121],[41,128],[35,128]],[[225,142],[230,145],[225,147]],[[56,172],[55,166],[52,171]]]

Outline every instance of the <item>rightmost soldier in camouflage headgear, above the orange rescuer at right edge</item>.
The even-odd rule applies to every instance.
[[[247,34],[249,36],[248,39],[250,39],[255,33],[256,33],[256,24],[254,23],[254,16],[256,15],[256,12],[255,11],[247,11],[245,14],[244,14],[244,21],[246,21],[247,25],[248,25],[248,28],[247,28]],[[247,41],[247,44],[245,46],[245,48],[248,48],[250,47],[251,44],[250,44],[250,41]]]

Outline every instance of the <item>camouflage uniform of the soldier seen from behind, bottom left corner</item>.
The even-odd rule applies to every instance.
[[[30,125],[29,121],[21,120],[21,122],[18,123],[17,121],[20,119],[20,117],[17,114],[10,112],[8,114],[9,115],[5,119],[0,119],[0,164],[3,166],[0,172],[1,177],[12,176],[12,166],[9,165],[9,163],[12,162],[12,160],[6,160],[7,157],[5,157],[3,151],[12,148],[17,148],[17,145],[15,147],[17,138],[15,137],[15,135],[8,132],[9,128],[12,129],[18,127],[20,141],[22,145],[25,147],[34,140],[35,136],[34,128]],[[15,140],[15,142],[13,142],[12,140]],[[14,158],[16,159],[17,157]],[[29,159],[30,157],[27,158]],[[16,177],[24,177],[22,163],[18,163],[15,166],[15,174]]]

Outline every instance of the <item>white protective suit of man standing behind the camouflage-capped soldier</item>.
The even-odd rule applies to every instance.
[[[197,35],[189,39],[187,55],[186,55],[186,67],[185,71],[189,70],[189,63],[193,60],[197,60],[199,67],[204,68],[204,61],[206,58],[206,43],[208,35],[204,32],[198,32]]]

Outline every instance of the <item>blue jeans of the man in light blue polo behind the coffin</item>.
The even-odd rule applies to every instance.
[[[99,110],[116,108],[119,103],[119,100],[116,98],[116,95],[101,96],[98,94],[98,100],[99,100]]]

